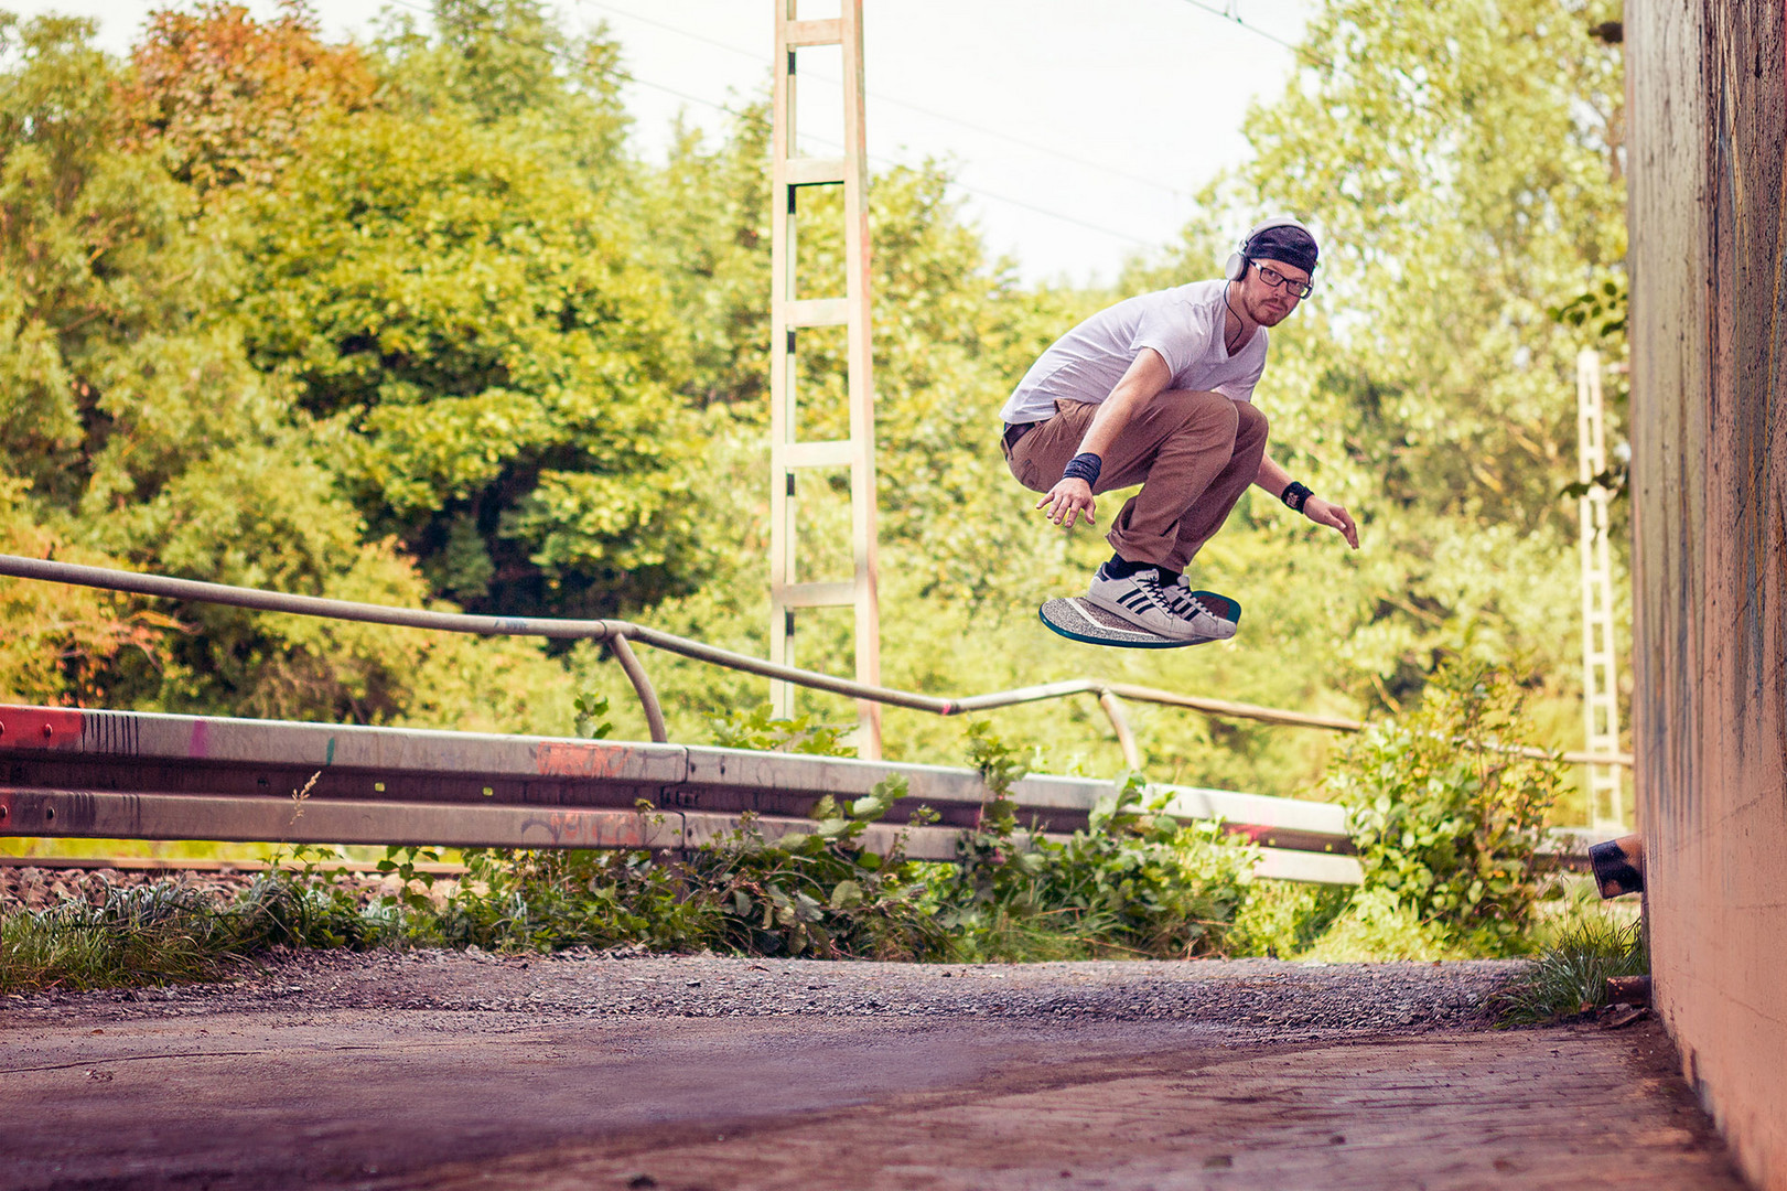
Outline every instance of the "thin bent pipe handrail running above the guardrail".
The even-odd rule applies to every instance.
[[[986,712],[1003,706],[1017,706],[1020,703],[1036,703],[1042,699],[1061,699],[1069,696],[1090,694],[1095,696],[1099,706],[1104,710],[1106,717],[1112,721],[1112,730],[1117,735],[1119,744],[1124,751],[1124,764],[1131,769],[1142,767],[1140,751],[1135,744],[1135,735],[1129,730],[1129,722],[1122,712],[1122,699],[1131,699],[1135,703],[1156,703],[1162,706],[1179,706],[1192,712],[1201,712],[1204,715],[1222,715],[1229,719],[1251,719],[1265,724],[1279,724],[1292,728],[1322,728],[1328,731],[1363,731],[1365,724],[1356,719],[1346,719],[1338,715],[1312,715],[1308,712],[1288,712],[1283,708],[1258,706],[1254,703],[1233,703],[1228,699],[1204,699],[1201,696],[1187,696],[1172,690],[1160,690],[1154,687],[1138,687],[1135,683],[1113,683],[1095,678],[1074,678],[1058,683],[1044,683],[1036,687],[1017,687],[1013,690],[995,690],[981,696],[969,696],[961,699],[944,699],[936,696],[922,696],[910,690],[895,690],[892,687],[870,687],[867,683],[856,683],[847,678],[833,678],[831,674],[820,674],[817,671],[802,671],[792,665],[781,665],[776,662],[767,662],[763,658],[752,658],[743,653],[734,653],[731,649],[720,649],[717,646],[708,646],[704,642],[690,640],[686,637],[677,637],[674,633],[663,633],[643,624],[633,624],[631,621],[559,621],[549,617],[486,617],[472,615],[465,612],[432,612],[425,608],[393,608],[390,604],[363,604],[347,599],[327,599],[322,596],[291,596],[284,592],[266,592],[254,587],[231,587],[227,583],[206,583],[198,579],[173,579],[168,576],[141,574],[136,570],[114,570],[109,567],[84,567],[77,563],[59,563],[45,558],[23,558],[20,554],[0,554],[0,576],[11,576],[20,579],[38,579],[45,583],[68,583],[75,587],[95,587],[111,592],[129,592],[132,596],[154,596],[161,599],[184,599],[211,604],[232,604],[238,608],[252,608],[256,612],[284,612],[306,617],[325,617],[332,621],[361,621],[366,624],[391,624],[399,628],[420,628],[420,629],[438,629],[447,633],[474,633],[481,637],[549,637],[558,640],[599,640],[609,646],[615,653],[615,660],[620,662],[622,672],[625,672],[627,681],[633,683],[633,692],[640,699],[640,706],[645,712],[645,726],[654,742],[667,742],[670,739],[665,728],[663,708],[658,703],[658,692],[645,674],[645,667],[640,665],[638,656],[633,653],[629,640],[636,640],[654,649],[663,649],[665,653],[674,653],[695,662],[708,662],[713,665],[722,665],[726,669],[742,671],[745,674],[758,674],[759,678],[776,678],[781,681],[795,683],[810,690],[826,690],[831,694],[849,696],[852,699],[868,699],[872,703],[885,703],[888,706],[904,706],[915,712],[931,712],[933,715],[963,715],[970,712]],[[1494,751],[1517,753],[1521,756],[1549,758],[1553,753],[1535,748],[1503,748],[1503,746],[1485,746]],[[1573,765],[1624,765],[1632,767],[1630,753],[1560,753],[1560,760]]]

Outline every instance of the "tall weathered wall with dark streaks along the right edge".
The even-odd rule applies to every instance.
[[[1633,733],[1657,1001],[1787,1189],[1787,4],[1628,0]]]

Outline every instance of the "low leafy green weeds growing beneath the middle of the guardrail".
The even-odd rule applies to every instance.
[[[726,731],[726,726],[720,726]],[[761,731],[822,748],[795,721]],[[977,722],[972,760],[986,780],[979,826],[956,864],[924,864],[867,830],[906,796],[888,778],[851,803],[824,798],[804,832],[740,830],[684,862],[647,853],[472,853],[461,882],[416,930],[457,944],[550,950],[572,944],[711,946],[743,955],[856,959],[1188,957],[1217,951],[1246,898],[1256,851],[1213,824],[1163,814],[1140,778],[1103,801],[1086,828],[1051,839],[1019,823],[1008,796],[1020,765]],[[645,814],[650,814],[645,810]],[[917,815],[924,824],[935,815]],[[386,867],[418,878],[397,860]]]

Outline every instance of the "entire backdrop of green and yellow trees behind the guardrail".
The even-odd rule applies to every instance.
[[[1244,499],[1196,578],[1242,599],[1249,631],[1199,651],[1044,647],[1035,624],[1103,540],[1028,517],[994,415],[1051,338],[1115,295],[1020,284],[940,168],[877,175],[885,680],[967,694],[1090,672],[1399,714],[1462,655],[1515,665],[1539,739],[1571,740],[1558,492],[1571,356],[1605,320],[1553,311],[1623,293],[1619,52],[1589,34],[1601,4],[1330,0],[1285,95],[1249,120],[1254,163],[1179,243],[1128,265],[1124,293],[1208,277],[1278,207],[1326,243],[1260,406],[1276,458],[1360,513],[1365,549]],[[427,30],[390,20],[368,45],[325,41],[302,7],[259,21],[211,0],[155,14],[127,61],[84,21],[0,16],[0,549],[618,613],[761,655],[767,120],[747,107],[645,161],[620,59],[534,0],[440,0]],[[811,275],[842,259],[827,202],[802,206]],[[842,336],[802,333],[813,435],[842,415]],[[836,477],[802,485],[801,519],[806,572],[843,570]],[[804,615],[802,662],[845,669],[849,635],[847,615]],[[677,739],[761,703],[759,680],[645,663]],[[7,699],[561,733],[579,696],[642,735],[593,647],[0,583]],[[849,715],[802,699],[811,722]],[[1108,771],[1099,712],[1045,706],[994,728],[1028,767]],[[1165,780],[1297,794],[1330,748],[1131,715]],[[958,742],[947,721],[888,715],[890,755]],[[1094,914],[1104,894],[1074,896]]]

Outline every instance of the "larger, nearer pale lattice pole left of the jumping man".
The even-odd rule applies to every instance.
[[[795,663],[795,612],[856,608],[856,681],[881,683],[881,613],[876,594],[876,393],[870,372],[868,156],[863,143],[863,5],[840,16],[797,20],[799,0],[776,0],[776,93],[770,177],[770,660]],[[801,157],[795,145],[795,52],[843,50],[843,156]],[[797,279],[797,195],[804,186],[843,188],[845,295],[802,299]],[[801,327],[847,327],[851,436],[801,442],[797,347]],[[795,558],[795,476],[801,469],[851,469],[852,576],[802,583]],[[793,687],[770,683],[776,715],[793,710]],[[881,756],[881,706],[860,701],[858,751]]]

